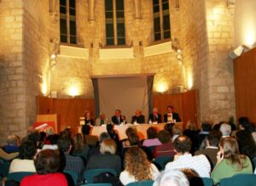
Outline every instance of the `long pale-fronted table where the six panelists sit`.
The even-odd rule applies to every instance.
[[[159,124],[125,124],[125,125],[115,125],[114,130],[118,132],[119,139],[122,140],[124,138],[127,138],[125,134],[125,130],[128,127],[134,127],[137,129],[138,136],[140,140],[147,138],[147,130],[148,127],[156,127],[158,130],[164,129],[166,123],[159,123]],[[180,127],[181,130],[183,130],[183,122],[177,122],[175,123],[178,127]],[[79,132],[81,132],[81,127],[79,127]],[[99,136],[102,132],[107,132],[106,126],[99,126],[99,127],[92,127],[91,135]]]

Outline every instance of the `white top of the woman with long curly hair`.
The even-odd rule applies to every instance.
[[[150,171],[151,171],[153,180],[155,180],[160,174],[159,170],[157,169],[156,166],[154,166],[153,163],[151,163]],[[127,185],[132,182],[137,182],[137,180],[132,175],[130,175],[127,171],[121,172],[119,179],[121,183],[123,183],[124,185]]]

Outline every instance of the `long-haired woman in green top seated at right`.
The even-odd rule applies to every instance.
[[[223,178],[231,178],[236,174],[253,173],[253,166],[246,155],[240,155],[235,138],[222,138],[219,143],[217,165],[212,171],[214,184]]]

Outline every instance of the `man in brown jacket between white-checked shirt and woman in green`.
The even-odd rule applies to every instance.
[[[217,163],[218,144],[221,134],[218,131],[212,130],[207,136],[207,148],[195,151],[195,155],[207,155],[212,167]]]

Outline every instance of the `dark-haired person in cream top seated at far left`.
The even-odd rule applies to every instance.
[[[11,162],[9,173],[12,172],[36,172],[34,166],[34,156],[37,153],[35,144],[31,141],[26,141],[20,145],[19,158]]]

